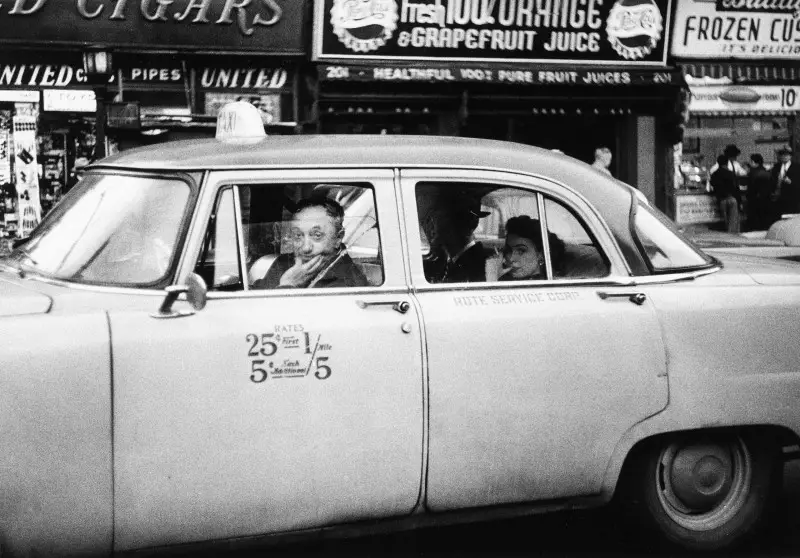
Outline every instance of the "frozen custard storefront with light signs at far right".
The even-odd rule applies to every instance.
[[[684,141],[675,152],[672,196],[678,224],[721,221],[709,186],[710,171],[726,145],[741,150],[738,173],[745,228],[758,221],[747,204],[747,166],[760,154],[769,168],[785,145],[797,150],[800,110],[800,44],[791,7],[725,6],[687,0],[676,7],[672,53],[682,67],[691,99]],[[759,4],[761,6],[761,4]],[[794,61],[793,61],[794,60]],[[749,223],[748,223],[749,221]]]

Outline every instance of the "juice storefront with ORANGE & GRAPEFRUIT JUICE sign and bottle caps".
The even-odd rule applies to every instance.
[[[532,5],[317,2],[317,129],[503,139],[587,162],[607,146],[612,173],[663,205],[682,86],[670,1]]]

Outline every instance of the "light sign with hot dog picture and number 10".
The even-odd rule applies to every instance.
[[[690,112],[794,112],[800,110],[800,86],[716,85],[689,87]]]

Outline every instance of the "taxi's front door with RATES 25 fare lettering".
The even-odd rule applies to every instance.
[[[312,194],[347,208],[369,284],[252,288]],[[390,170],[210,175],[182,264],[206,307],[110,316],[117,550],[412,511],[422,343],[399,246]]]

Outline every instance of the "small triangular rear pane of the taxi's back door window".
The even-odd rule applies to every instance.
[[[588,279],[608,275],[608,259],[578,216],[551,198],[545,199],[544,210],[553,277]]]

